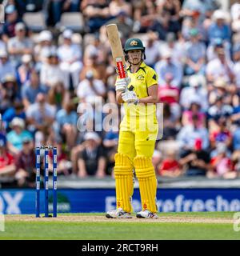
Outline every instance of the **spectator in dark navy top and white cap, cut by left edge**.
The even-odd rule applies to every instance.
[[[16,78],[12,75],[6,75],[0,83],[0,110],[4,113],[15,100],[20,99]]]

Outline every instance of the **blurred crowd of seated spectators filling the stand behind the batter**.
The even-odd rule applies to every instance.
[[[22,20],[33,3],[48,14],[48,29],[38,34]],[[83,15],[82,34],[56,32],[66,11]],[[0,182],[34,186],[34,147],[42,145],[58,147],[60,175],[113,174],[118,131],[99,129],[106,115],[102,106],[116,103],[108,23],[118,25],[122,43],[142,39],[145,62],[158,74],[164,104],[163,134],[153,157],[156,173],[239,176],[239,3],[226,11],[214,0],[12,0],[5,12]],[[84,122],[94,123],[93,129],[81,130]]]

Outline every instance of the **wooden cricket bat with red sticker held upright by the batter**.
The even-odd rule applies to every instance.
[[[126,78],[126,62],[122,50],[122,43],[118,34],[118,26],[116,24],[107,25],[106,33],[109,38],[117,76],[118,78]]]

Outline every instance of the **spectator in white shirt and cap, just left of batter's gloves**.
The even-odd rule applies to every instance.
[[[77,95],[81,102],[88,102],[88,99],[93,98],[93,96],[105,97],[106,88],[102,80],[95,79],[94,72],[88,70],[86,78],[78,85]]]

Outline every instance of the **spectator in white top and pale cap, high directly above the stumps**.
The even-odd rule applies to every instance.
[[[67,89],[68,82],[66,75],[62,74],[59,66],[58,54],[55,50],[50,50],[47,55],[47,62],[43,63],[40,70],[40,82],[47,88],[53,87],[57,82],[63,82]]]

